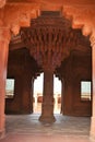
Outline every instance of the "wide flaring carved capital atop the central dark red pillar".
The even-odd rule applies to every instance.
[[[43,12],[32,20],[31,27],[21,29],[21,37],[37,63],[52,71],[83,39],[81,31],[72,29],[70,22],[57,12]]]

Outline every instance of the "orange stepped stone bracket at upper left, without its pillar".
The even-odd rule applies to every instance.
[[[0,10],[0,26],[10,28],[16,35],[22,26],[29,26],[31,20],[39,15],[39,7],[29,3],[7,3]]]

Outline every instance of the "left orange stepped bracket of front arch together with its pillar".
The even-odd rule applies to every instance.
[[[21,26],[29,26],[31,19],[37,15],[38,7],[31,4],[5,4],[3,9],[0,9],[0,137],[5,131],[4,91],[9,43],[13,34],[19,34]]]

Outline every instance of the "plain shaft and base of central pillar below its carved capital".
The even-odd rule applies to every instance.
[[[54,122],[54,72],[44,71],[44,92],[40,121]]]

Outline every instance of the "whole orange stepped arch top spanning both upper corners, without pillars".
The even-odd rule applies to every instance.
[[[45,1],[46,2],[46,1]],[[59,7],[60,5],[60,7]],[[48,2],[54,11],[60,11],[72,22],[72,28],[81,28],[83,35],[91,35],[95,25],[95,5],[92,4],[62,4],[59,5]],[[12,34],[17,35],[22,26],[29,26],[31,20],[37,17],[41,11],[47,10],[44,3],[39,2],[8,2],[4,10],[0,10],[0,25],[10,28]]]

